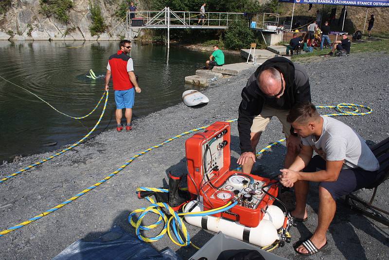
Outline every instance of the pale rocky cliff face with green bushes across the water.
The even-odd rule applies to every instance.
[[[110,32],[110,34],[103,33],[100,37],[92,37],[89,32],[92,20],[88,0],[73,0],[68,24],[63,24],[54,17],[40,14],[39,0],[14,0],[8,12],[0,16],[0,39],[117,40],[126,36],[125,19],[119,24],[120,19],[115,16],[120,2],[119,0],[96,1],[100,5],[101,14],[108,25],[106,32]],[[138,8],[141,6],[138,5]]]

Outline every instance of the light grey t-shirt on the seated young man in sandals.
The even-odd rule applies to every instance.
[[[344,160],[343,168],[378,170],[378,160],[359,134],[343,122],[321,117],[324,121],[320,138],[316,140],[314,135],[301,138],[304,146],[312,147],[326,161]]]

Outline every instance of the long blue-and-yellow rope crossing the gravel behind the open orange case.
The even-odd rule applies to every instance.
[[[365,108],[365,109],[368,109],[369,111],[368,112],[365,112],[365,113],[358,113],[358,107],[360,108]],[[336,106],[318,106],[318,108],[336,108],[337,111],[339,111],[340,113],[336,113],[336,114],[327,114],[326,116],[336,116],[336,115],[346,115],[346,116],[350,116],[350,115],[366,115],[366,114],[370,114],[373,110],[370,108],[370,107],[367,107],[367,106],[363,106],[363,105],[358,105],[358,104],[350,104],[350,103],[340,103]],[[348,111],[343,111],[341,110],[341,108],[354,108],[355,110],[352,111],[352,112],[348,112]],[[228,120],[226,122],[235,122],[237,121],[237,119],[233,119],[233,120]],[[153,150],[153,149],[156,149],[156,148],[159,148],[167,143],[170,143],[171,141],[181,137],[181,136],[184,136],[186,134],[189,134],[189,133],[193,133],[193,132],[196,132],[198,130],[203,130],[203,129],[206,129],[208,126],[204,126],[204,127],[200,127],[200,128],[196,128],[196,129],[193,129],[193,130],[189,130],[189,131],[186,131],[186,132],[183,132],[181,134],[178,134],[172,138],[169,138],[168,140],[164,141],[163,143],[160,143],[159,145],[156,145],[156,146],[152,146],[148,149],[145,149],[144,151],[141,151],[140,153],[134,155],[133,157],[131,157],[127,162],[124,163],[124,165],[122,165],[121,167],[119,167],[117,170],[115,170],[114,172],[112,172],[111,174],[109,174],[107,177],[105,177],[103,180],[97,182],[96,184],[88,187],[87,189],[84,189],[83,191],[81,191],[80,193],[74,195],[73,197],[71,197],[70,199],[64,201],[63,203],[61,204],[58,204],[52,208],[50,208],[49,210],[39,214],[39,215],[36,215],[35,217],[27,220],[27,221],[24,221],[22,223],[19,223],[17,225],[14,225],[12,227],[9,227],[8,229],[5,229],[5,230],[2,230],[0,231],[0,237],[4,236],[5,234],[8,234],[16,229],[19,229],[25,225],[28,225],[30,223],[33,223],[35,221],[37,221],[38,219],[41,219],[47,215],[49,215],[50,213],[56,211],[57,209],[63,207],[63,206],[66,206],[67,204],[70,204],[72,201],[78,199],[79,197],[87,194],[90,190],[93,190],[94,188],[100,186],[101,184],[105,183],[106,181],[108,181],[110,178],[112,178],[113,176],[115,176],[117,173],[119,173],[121,170],[123,170],[125,167],[127,167],[130,163],[132,163],[136,158],[142,156],[143,154]],[[278,143],[278,142],[276,142]]]

